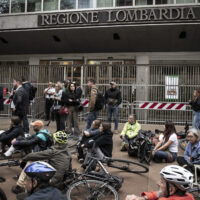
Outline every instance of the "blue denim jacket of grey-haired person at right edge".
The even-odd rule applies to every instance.
[[[200,141],[194,146],[188,142],[184,152],[184,158],[188,163],[200,164]],[[189,158],[192,158],[191,162],[189,161]]]

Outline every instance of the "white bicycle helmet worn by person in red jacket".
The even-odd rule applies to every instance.
[[[178,165],[169,165],[160,171],[160,175],[169,183],[173,183],[180,190],[186,191],[193,185],[193,174]]]

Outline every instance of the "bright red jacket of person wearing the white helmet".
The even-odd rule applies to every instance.
[[[189,193],[186,193],[186,196],[171,196],[171,197],[161,197],[158,199],[157,192],[143,192],[142,196],[146,196],[148,200],[194,200],[193,196]]]

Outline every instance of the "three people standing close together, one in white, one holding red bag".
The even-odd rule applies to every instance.
[[[78,135],[80,133],[78,112],[81,110],[82,89],[75,82],[67,81],[64,86],[57,82],[55,88],[52,82],[49,82],[49,87],[44,90],[44,95],[46,120],[49,120],[50,114],[53,114],[57,131],[65,130],[67,121],[67,131],[72,132],[73,127],[74,134]]]

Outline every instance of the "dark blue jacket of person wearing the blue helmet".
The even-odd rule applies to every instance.
[[[31,196],[26,197],[24,200],[66,200],[62,193],[54,188],[54,187],[47,187],[44,189],[39,189]]]

